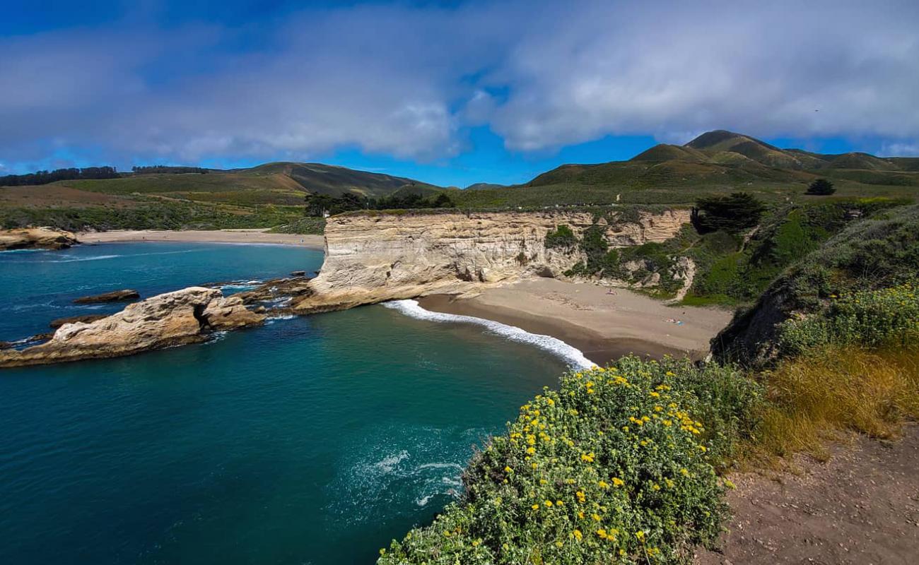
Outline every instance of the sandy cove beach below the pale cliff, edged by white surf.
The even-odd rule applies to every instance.
[[[700,358],[708,353],[709,339],[732,316],[727,310],[667,306],[624,288],[608,291],[533,278],[473,296],[432,295],[419,302],[430,311],[476,316],[557,337],[597,364],[629,353]]]

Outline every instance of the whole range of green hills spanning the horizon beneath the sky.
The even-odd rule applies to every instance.
[[[462,209],[613,203],[672,206],[736,190],[766,201],[794,201],[803,198],[806,186],[819,177],[832,179],[837,187],[830,198],[915,198],[919,158],[780,149],[748,135],[715,130],[685,145],[655,145],[628,161],[563,164],[516,186],[477,183],[459,190],[328,164],[287,162],[207,174],[145,172],[7,186],[0,187],[0,224],[72,230],[296,224],[289,229],[319,231],[322,222],[302,220],[308,194],[431,197],[446,191]]]

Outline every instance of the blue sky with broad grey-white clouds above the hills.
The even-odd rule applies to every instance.
[[[919,2],[0,0],[0,175],[514,184],[718,129],[919,155]]]

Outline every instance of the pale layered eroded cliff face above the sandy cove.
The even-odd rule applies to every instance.
[[[538,275],[562,277],[584,259],[579,250],[546,248],[546,234],[567,225],[580,236],[599,225],[612,247],[663,242],[689,221],[689,210],[642,212],[636,221],[584,211],[355,214],[325,226],[325,262],[299,311],[337,310],[389,299],[473,288]]]

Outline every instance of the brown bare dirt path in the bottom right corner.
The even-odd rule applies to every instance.
[[[697,565],[919,563],[919,426],[890,444],[860,437],[800,467],[778,481],[732,477],[723,554],[701,552]]]

